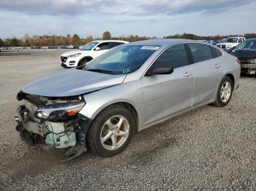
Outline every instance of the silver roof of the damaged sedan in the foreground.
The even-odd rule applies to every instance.
[[[131,42],[129,43],[129,45],[162,47],[162,46],[171,45],[171,44],[188,43],[188,42],[206,44],[205,42],[199,42],[199,41],[189,40],[189,39],[148,39],[144,41]]]

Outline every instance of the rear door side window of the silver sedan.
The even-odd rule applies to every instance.
[[[208,61],[213,58],[211,47],[205,44],[188,44],[194,63]]]

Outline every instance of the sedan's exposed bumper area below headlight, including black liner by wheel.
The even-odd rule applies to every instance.
[[[86,133],[91,125],[88,117],[77,114],[69,120],[61,118],[61,122],[53,122],[34,117],[36,110],[37,107],[29,103],[17,109],[16,130],[22,141],[30,146],[41,144],[45,149],[67,148],[76,144],[86,149]]]

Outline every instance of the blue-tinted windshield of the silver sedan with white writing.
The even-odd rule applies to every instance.
[[[140,45],[118,46],[90,61],[81,69],[106,74],[128,74],[139,69],[158,48]]]

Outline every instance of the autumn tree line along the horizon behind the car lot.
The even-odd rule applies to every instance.
[[[194,40],[220,40],[230,36],[244,36],[246,39],[256,38],[256,34],[236,34],[236,35],[216,35],[216,36],[197,36],[195,34],[175,34],[170,36],[164,36],[167,39],[194,39]],[[124,40],[128,42],[141,41],[146,39],[154,39],[156,37],[150,36],[138,36],[138,35],[130,35],[130,36],[118,36],[113,37],[110,34],[110,31],[105,31],[102,34],[101,38],[94,38],[93,36],[86,36],[86,38],[81,38],[78,34],[67,34],[67,36],[57,36],[57,35],[32,35],[25,34],[23,38],[7,38],[0,39],[0,47],[34,47],[34,46],[55,46],[55,45],[67,45],[67,44],[86,44],[93,40],[97,39],[118,39]]]

